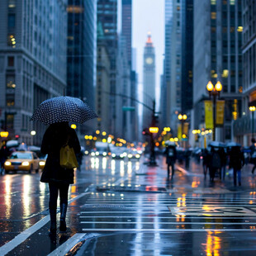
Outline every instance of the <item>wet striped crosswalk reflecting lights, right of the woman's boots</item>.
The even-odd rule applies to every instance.
[[[254,230],[256,199],[153,193],[92,193],[81,206],[83,232]]]

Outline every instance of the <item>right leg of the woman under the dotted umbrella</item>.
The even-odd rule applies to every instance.
[[[69,193],[69,184],[60,184],[59,185],[59,197],[60,197],[60,231],[66,231],[66,214],[68,209],[68,193]]]

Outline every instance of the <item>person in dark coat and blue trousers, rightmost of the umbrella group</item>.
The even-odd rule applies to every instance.
[[[239,146],[232,147],[230,150],[230,167],[233,168],[234,186],[236,186],[236,176],[238,176],[238,183],[241,186],[241,168],[244,165],[244,154],[241,152]]]

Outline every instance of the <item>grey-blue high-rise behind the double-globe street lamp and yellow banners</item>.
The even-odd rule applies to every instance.
[[[241,116],[242,26],[241,1],[194,1],[194,59],[192,129],[205,127],[206,84],[222,84],[225,100],[224,126],[216,129],[216,140],[229,141],[231,123]]]

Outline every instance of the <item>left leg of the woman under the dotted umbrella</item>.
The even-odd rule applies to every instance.
[[[49,211],[50,211],[50,232],[56,231],[56,210],[58,199],[58,186],[56,183],[49,183],[50,199],[49,199]]]

